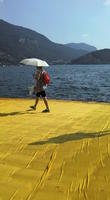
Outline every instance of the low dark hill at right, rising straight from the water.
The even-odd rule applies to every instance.
[[[110,64],[110,49],[101,49],[73,59],[71,64]]]

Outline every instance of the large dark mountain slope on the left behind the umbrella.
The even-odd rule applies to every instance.
[[[87,53],[56,44],[27,28],[0,20],[0,63],[17,64],[23,58],[37,57],[49,63],[68,63]]]

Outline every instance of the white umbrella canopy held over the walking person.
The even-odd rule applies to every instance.
[[[24,65],[32,65],[36,67],[49,67],[46,61],[40,60],[38,58],[26,58],[26,59],[21,60],[20,63]]]

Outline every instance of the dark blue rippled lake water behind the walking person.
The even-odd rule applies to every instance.
[[[46,69],[49,99],[110,102],[110,65],[57,65]],[[0,66],[0,97],[32,98],[35,67]]]

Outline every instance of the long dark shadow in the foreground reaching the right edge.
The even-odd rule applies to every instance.
[[[90,138],[96,138],[96,137],[103,137],[110,135],[110,130],[107,131],[101,131],[101,132],[95,132],[95,133],[70,133],[70,134],[64,134],[57,137],[49,138],[46,141],[38,141],[30,143],[29,145],[44,145],[44,144],[60,144],[64,142],[69,142],[72,140],[82,140],[82,139],[90,139]]]

